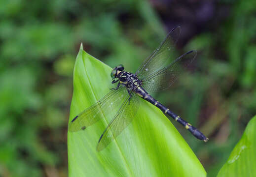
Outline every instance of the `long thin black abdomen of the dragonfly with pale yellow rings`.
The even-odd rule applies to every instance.
[[[159,108],[163,113],[169,115],[170,117],[172,117],[173,119],[175,119],[175,121],[181,123],[186,129],[188,129],[197,139],[199,140],[203,140],[204,142],[208,141],[208,138],[206,138],[206,136],[200,132],[198,129],[196,129],[194,126],[192,126],[190,123],[186,122],[185,120],[183,120],[180,116],[177,116],[176,114],[174,114],[173,112],[171,112],[168,108],[166,108],[164,105],[162,105],[161,103],[159,103],[156,99],[154,99],[151,95],[149,95],[145,89],[138,87],[137,89],[137,94],[142,97],[143,99],[145,99],[146,101],[148,101],[149,103],[153,104],[154,106],[156,106],[157,108]]]

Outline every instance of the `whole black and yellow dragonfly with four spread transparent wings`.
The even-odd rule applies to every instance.
[[[196,51],[186,52],[177,59],[170,59],[175,48],[181,27],[172,29],[160,46],[143,61],[135,74],[124,70],[122,64],[114,67],[110,73],[112,84],[110,92],[95,104],[75,116],[69,123],[69,131],[76,132],[96,123],[105,116],[112,119],[104,130],[97,145],[97,151],[106,148],[137,116],[140,99],[144,99],[159,108],[167,118],[173,118],[197,139],[207,142],[209,139],[190,123],[174,114],[169,108],[158,102],[149,93],[169,88],[196,57]]]

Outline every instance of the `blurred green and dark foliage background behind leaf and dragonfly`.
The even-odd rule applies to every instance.
[[[192,69],[156,96],[204,132],[177,123],[215,177],[256,114],[255,0],[0,0],[0,176],[67,177],[75,56],[135,71],[177,25]]]

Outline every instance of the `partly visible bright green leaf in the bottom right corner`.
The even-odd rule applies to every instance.
[[[256,116],[248,123],[218,177],[256,177]]]

